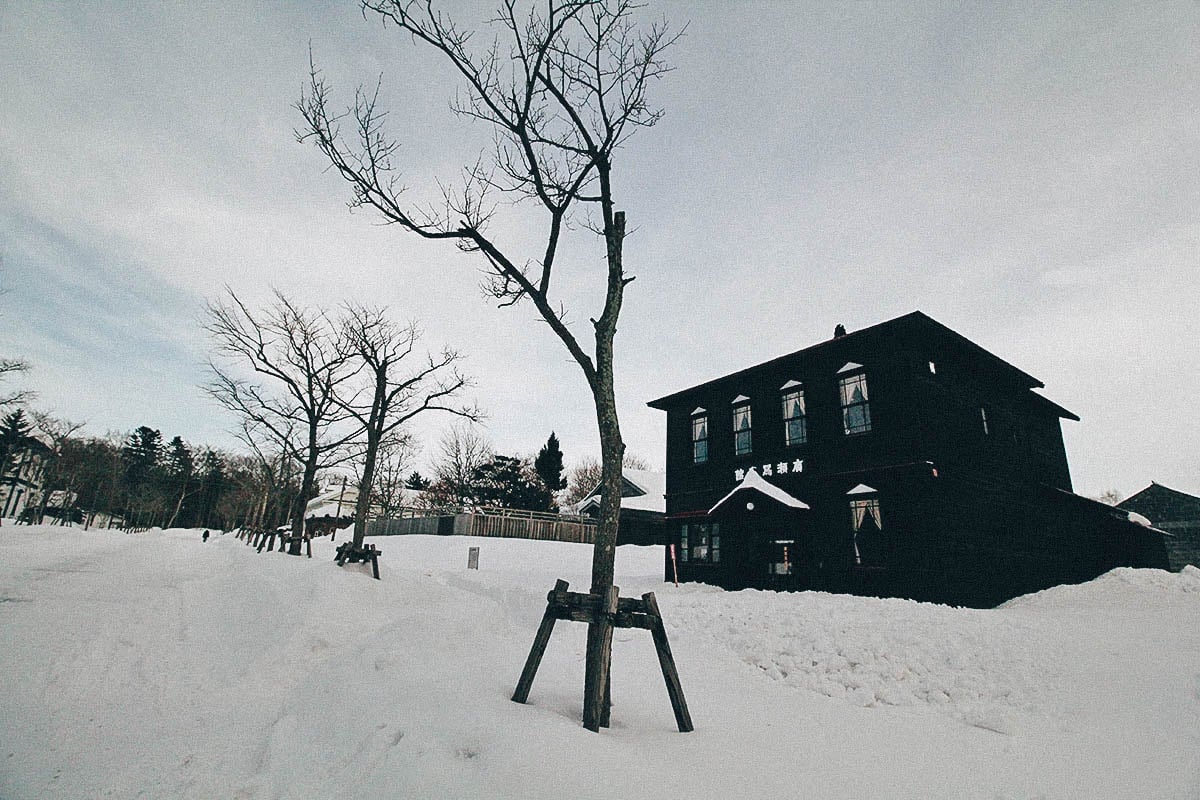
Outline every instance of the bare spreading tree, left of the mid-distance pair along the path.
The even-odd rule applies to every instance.
[[[302,465],[300,491],[292,501],[288,548],[299,555],[317,470],[350,457],[346,445],[355,432],[338,425],[348,415],[337,393],[354,368],[324,313],[300,307],[278,290],[275,302],[260,313],[251,312],[232,289],[227,294],[208,305],[205,330],[232,367],[252,369],[270,389],[235,377],[232,368],[214,361],[209,363],[214,380],[206,389]]]

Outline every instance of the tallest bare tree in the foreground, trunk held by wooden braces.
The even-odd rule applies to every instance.
[[[403,197],[394,163],[398,144],[383,130],[378,91],[359,89],[353,107],[331,110],[330,86],[316,66],[298,104],[305,120],[298,138],[314,143],[350,182],[352,206],[372,207],[407,231],[480,253],[487,291],[502,306],[533,302],[580,366],[592,391],[604,468],[592,560],[592,593],[602,595],[613,585],[625,449],[613,390],[613,338],[625,287],[634,279],[624,269],[625,213],[617,209],[613,157],[635,131],[661,118],[647,94],[668,72],[662,55],[677,34],[666,25],[640,30],[637,6],[629,0],[548,0],[544,11],[528,13],[517,12],[516,0],[504,0],[492,20],[499,36],[476,49],[472,31],[436,11],[432,1],[362,0],[361,6],[449,61],[467,86],[455,109],[492,127],[494,151],[466,168],[458,190],[444,191],[443,209],[416,207]],[[343,124],[353,130],[349,137],[342,134]],[[494,193],[542,211],[540,251],[515,252],[490,233]],[[592,318],[590,353],[551,295],[560,240],[576,221],[602,240],[607,267],[604,305]],[[600,726],[611,633],[604,619],[588,628],[583,722],[593,730]]]

